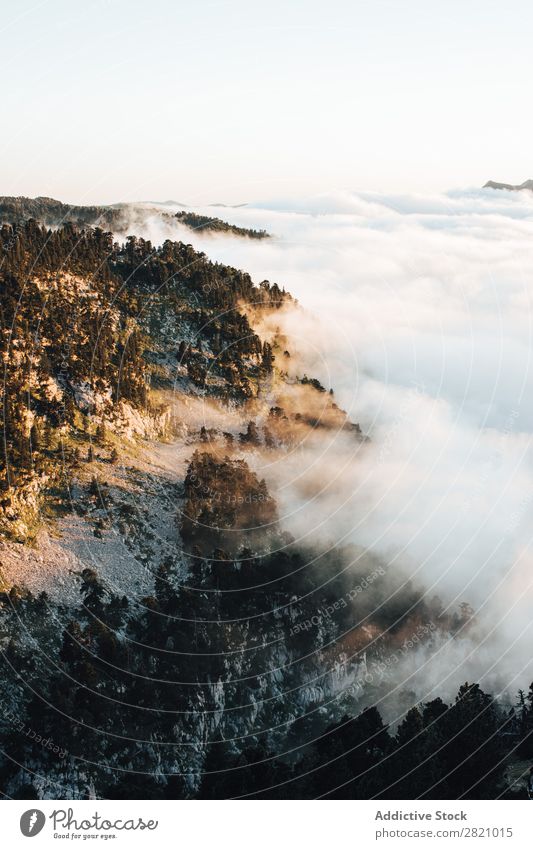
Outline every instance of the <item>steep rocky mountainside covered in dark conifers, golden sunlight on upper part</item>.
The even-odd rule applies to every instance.
[[[373,707],[471,612],[281,514],[272,467],[365,450],[256,329],[290,295],[187,244],[20,217],[0,230],[3,792],[442,797],[470,767],[473,795],[502,792],[531,699],[510,716],[467,686],[397,731]]]

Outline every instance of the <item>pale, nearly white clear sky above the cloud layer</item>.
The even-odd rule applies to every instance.
[[[0,12],[0,194],[241,203],[533,177],[529,2]]]

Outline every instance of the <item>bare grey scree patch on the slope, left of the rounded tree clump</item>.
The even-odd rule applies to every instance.
[[[102,465],[99,476],[110,482],[106,509],[89,505],[86,515],[78,515],[77,505],[87,506],[86,486],[74,484],[72,512],[55,523],[54,536],[41,531],[35,547],[0,541],[3,580],[27,587],[34,595],[45,591],[52,602],[70,606],[80,602],[80,576],[87,568],[97,572],[110,592],[132,600],[153,593],[154,575],[169,554],[184,577],[186,565],[179,568],[176,485],[183,482],[194,448],[189,440],[148,443],[135,465]],[[134,509],[129,523],[121,521],[124,504]],[[103,527],[95,535],[98,519]]]

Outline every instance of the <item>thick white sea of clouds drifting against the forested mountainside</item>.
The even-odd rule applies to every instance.
[[[356,454],[339,438],[264,469],[282,520],[302,540],[312,528],[368,547],[445,606],[474,606],[475,651],[443,646],[422,664],[426,688],[443,669],[450,689],[527,682],[533,196],[339,193],[223,212],[274,238],[186,240],[287,287],[300,305],[276,329],[298,351],[292,367],[333,386],[370,437]],[[142,235],[169,237],[156,218]]]

